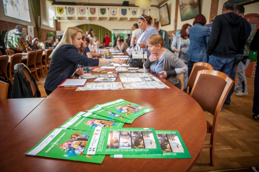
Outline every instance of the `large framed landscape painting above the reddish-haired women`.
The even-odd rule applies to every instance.
[[[181,21],[195,18],[201,13],[200,0],[179,0]]]

